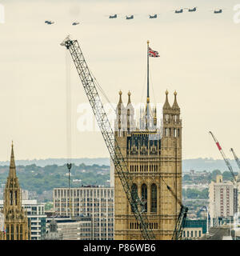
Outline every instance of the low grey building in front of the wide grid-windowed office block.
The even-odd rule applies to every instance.
[[[92,218],[78,216],[46,218],[46,235],[43,240],[92,240]]]

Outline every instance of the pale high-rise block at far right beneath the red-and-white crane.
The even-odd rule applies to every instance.
[[[222,175],[217,175],[216,182],[210,183],[209,198],[211,219],[230,218],[238,211],[238,190],[232,182],[223,182]]]

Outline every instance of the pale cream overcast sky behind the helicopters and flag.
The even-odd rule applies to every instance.
[[[240,155],[237,1],[0,0],[0,5],[1,161],[10,159],[12,140],[16,159],[66,158],[69,55],[60,43],[68,34],[78,39],[113,105],[119,90],[124,103],[129,90],[132,102],[146,102],[150,40],[161,56],[150,58],[150,102],[161,106],[168,90],[172,104],[178,92],[182,158],[221,158],[209,130],[227,157],[232,158],[231,147]],[[194,6],[194,13],[173,11]],[[218,8],[222,14],[213,14]],[[107,17],[114,13],[117,19]],[[159,17],[149,19],[154,13]],[[126,20],[126,14],[134,14],[134,20]],[[55,23],[46,25],[46,19]],[[74,21],[80,24],[72,26]],[[86,115],[89,105],[73,63],[70,94],[72,158],[108,157],[102,134],[81,129],[93,117]]]

